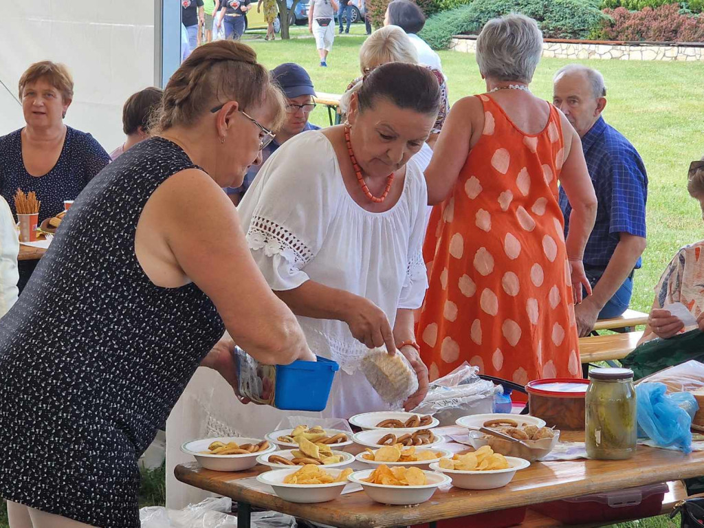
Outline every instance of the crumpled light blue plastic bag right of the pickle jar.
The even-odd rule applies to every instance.
[[[691,453],[692,433],[689,429],[692,419],[681,404],[684,402],[691,407],[691,398],[696,408],[696,400],[691,394],[673,398],[665,391],[667,386],[664,383],[641,383],[636,386],[638,425],[658,446],[674,446],[684,453]]]

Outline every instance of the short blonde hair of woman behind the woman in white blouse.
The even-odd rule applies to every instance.
[[[410,37],[397,25],[381,27],[364,41],[359,50],[359,68],[376,68],[386,63],[418,63],[418,52]]]

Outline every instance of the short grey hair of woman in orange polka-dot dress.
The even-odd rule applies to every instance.
[[[477,64],[484,77],[529,83],[543,54],[538,23],[512,13],[492,18],[477,37]]]

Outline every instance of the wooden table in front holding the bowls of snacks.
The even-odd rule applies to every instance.
[[[562,434],[562,439],[567,441],[583,438],[583,432]],[[457,451],[458,444],[447,445],[455,446],[453,451]],[[204,470],[197,463],[190,463],[178,465],[175,475],[186,484],[237,501],[240,528],[249,528],[251,505],[340,528],[391,528],[424,523],[432,526],[438,520],[465,515],[698,477],[704,475],[704,452],[684,455],[679,451],[639,446],[631,460],[534,463],[517,472],[513,481],[503,488],[470,491],[452,487],[436,491],[430,501],[414,508],[378,504],[363,491],[327,503],[296,504],[238,485],[239,479],[266,470],[267,467],[256,466],[246,472],[227,473]]]

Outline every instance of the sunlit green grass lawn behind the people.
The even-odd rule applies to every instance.
[[[247,42],[269,68],[295,62],[308,70],[320,92],[341,93],[359,75],[358,51],[364,40],[364,25],[352,26],[350,35],[336,37],[328,68],[320,68],[315,42],[307,27],[294,27],[290,41],[265,42],[264,32],[248,33]],[[337,34],[337,30],[336,30]],[[308,38],[303,38],[308,37]],[[484,91],[474,56],[442,51],[452,101]],[[532,89],[552,99],[552,77],[569,61],[543,59]],[[704,98],[700,63],[639,61],[582,61],[604,74],[608,87],[605,118],[639,150],[650,178],[648,196],[648,249],[643,269],[636,276],[633,308],[648,310],[653,287],[672,255],[683,244],[702,238],[698,204],[686,193],[689,162],[704,154]],[[327,111],[316,108],[311,118],[327,126]],[[163,504],[163,468],[143,476],[141,505]],[[615,524],[617,528],[677,528],[679,521],[666,517]],[[0,528],[7,528],[4,506],[0,506]]]

